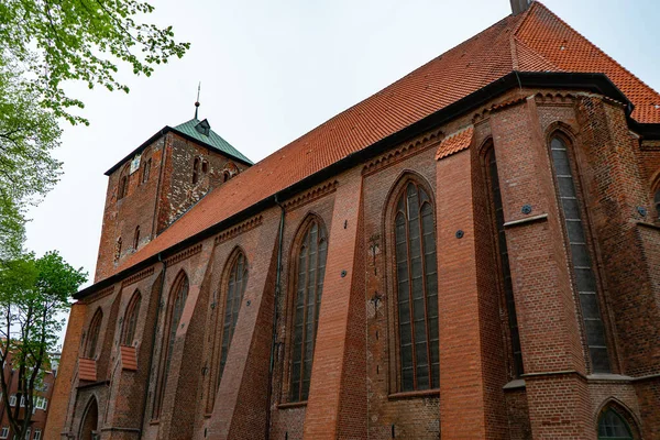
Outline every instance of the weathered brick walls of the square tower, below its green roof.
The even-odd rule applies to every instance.
[[[138,170],[130,174],[131,160],[128,160],[108,178],[96,282],[111,275],[127,255],[135,252],[133,239],[136,227],[140,227],[140,249],[211,189],[222,185],[226,172],[233,177],[248,167],[174,132],[162,135],[140,154]],[[143,167],[150,158],[151,167],[145,180]],[[198,179],[193,183],[196,158],[199,160]],[[120,183],[124,176],[128,177],[127,195],[119,198]],[[122,245],[117,258],[119,238],[122,239]]]

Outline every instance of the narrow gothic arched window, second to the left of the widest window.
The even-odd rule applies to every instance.
[[[239,319],[241,301],[243,300],[243,294],[245,293],[245,286],[248,285],[248,260],[245,260],[245,255],[242,252],[239,251],[238,254],[233,256],[233,262],[231,263],[228,275],[222,319],[222,349],[220,351],[220,367],[217,386],[220,385],[220,378],[224,371],[227,353],[229,352],[229,345],[231,344],[233,331],[237,327],[237,320]]]

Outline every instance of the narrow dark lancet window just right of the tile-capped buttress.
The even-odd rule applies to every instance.
[[[499,256],[499,273],[502,288],[504,289],[504,299],[508,315],[508,324],[510,333],[510,345],[513,352],[513,373],[519,377],[524,373],[522,350],[520,349],[520,336],[518,332],[518,318],[516,316],[516,302],[514,300],[514,285],[512,283],[512,268],[508,258],[508,249],[506,245],[506,232],[504,230],[504,208],[502,206],[502,193],[499,190],[499,177],[497,176],[497,162],[495,160],[495,148],[491,145],[486,154],[486,164],[488,166],[488,184],[491,189],[491,204],[497,232],[497,255]]]

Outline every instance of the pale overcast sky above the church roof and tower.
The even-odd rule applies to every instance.
[[[64,176],[30,212],[28,248],[58,250],[94,277],[103,173],[164,125],[194,116],[254,162],[510,12],[508,0],[151,0],[152,20],[191,43],[131,92],[70,90],[89,127],[64,125]],[[657,0],[544,0],[625,67],[660,90]]]

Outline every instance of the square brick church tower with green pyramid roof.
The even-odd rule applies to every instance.
[[[197,102],[196,102],[197,106]],[[252,162],[195,118],[166,125],[106,172],[109,177],[95,280]]]

